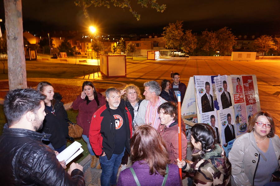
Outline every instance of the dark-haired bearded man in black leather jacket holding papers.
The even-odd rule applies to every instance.
[[[36,132],[46,115],[45,95],[33,89],[7,93],[4,113],[7,123],[0,136],[1,185],[85,185],[83,167],[72,163],[68,173],[58,152],[42,143],[50,134]]]

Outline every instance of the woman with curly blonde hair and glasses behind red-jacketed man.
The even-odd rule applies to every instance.
[[[138,109],[139,109],[139,105],[142,101],[142,95],[140,92],[140,89],[138,88],[138,86],[134,85],[134,84],[129,84],[127,86],[125,86],[124,90],[121,91],[124,94],[122,95],[122,103],[125,104],[125,106],[127,107],[128,111],[130,112],[131,116],[132,116],[132,128],[133,128],[133,133],[135,130],[135,116],[137,115]],[[126,169],[126,165],[128,163],[128,152],[125,151],[124,152],[124,157],[122,159],[122,163],[121,163],[121,170]]]

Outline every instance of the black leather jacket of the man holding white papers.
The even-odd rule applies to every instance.
[[[49,134],[4,126],[0,136],[1,185],[85,185],[81,170],[71,176],[41,140]]]

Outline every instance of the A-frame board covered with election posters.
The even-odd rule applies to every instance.
[[[250,118],[258,111],[255,75],[194,76],[190,77],[181,115],[184,122],[191,123],[189,127],[195,123],[215,126],[217,142],[228,156],[234,140],[247,132]]]

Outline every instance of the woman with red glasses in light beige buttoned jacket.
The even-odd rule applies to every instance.
[[[251,118],[248,133],[235,140],[229,160],[231,184],[237,186],[263,186],[271,181],[272,173],[279,169],[280,139],[270,114],[257,112]]]

